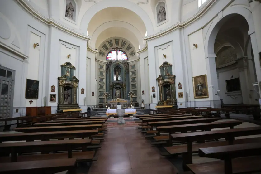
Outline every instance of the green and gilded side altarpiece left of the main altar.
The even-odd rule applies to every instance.
[[[74,76],[75,67],[66,62],[61,65],[61,77],[58,77],[58,110],[80,108],[77,103],[79,80]]]

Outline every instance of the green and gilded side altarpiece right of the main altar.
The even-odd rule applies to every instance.
[[[156,79],[159,86],[157,106],[173,106],[177,108],[175,75],[172,75],[172,64],[164,62],[160,67],[160,75]]]

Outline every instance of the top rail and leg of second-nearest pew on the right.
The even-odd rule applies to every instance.
[[[250,127],[250,128],[236,128],[236,129],[223,129],[214,131],[203,131],[203,132],[191,132],[191,133],[176,133],[169,135],[169,141],[181,141],[187,142],[187,153],[183,156],[183,164],[192,164],[192,142],[194,141],[205,141],[211,139],[226,138],[229,144],[233,144],[235,137],[258,135],[261,134],[261,126]],[[207,143],[206,143],[207,144]],[[211,146],[213,146],[211,144]],[[211,147],[210,146],[210,147]],[[165,147],[165,149],[171,152],[173,147]]]

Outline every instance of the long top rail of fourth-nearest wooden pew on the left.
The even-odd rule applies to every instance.
[[[90,130],[102,128],[102,124],[76,125],[76,126],[46,126],[46,127],[29,127],[15,128],[18,132],[52,132],[52,131],[73,131],[73,130]]]

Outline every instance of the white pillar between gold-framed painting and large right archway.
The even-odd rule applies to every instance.
[[[216,55],[208,55],[206,57],[206,70],[207,70],[207,88],[209,93],[210,105],[212,108],[221,108],[219,95],[216,95],[218,88],[217,73],[216,73]],[[209,86],[213,86],[209,87]]]

